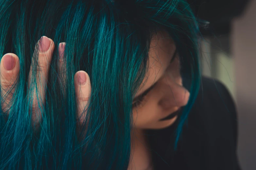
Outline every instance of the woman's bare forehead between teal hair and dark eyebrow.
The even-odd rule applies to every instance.
[[[147,90],[164,75],[175,49],[176,46],[167,32],[161,31],[152,36],[148,52],[149,68],[135,97]]]

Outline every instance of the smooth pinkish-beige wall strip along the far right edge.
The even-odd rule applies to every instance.
[[[256,170],[256,0],[232,22],[238,154],[243,170]]]

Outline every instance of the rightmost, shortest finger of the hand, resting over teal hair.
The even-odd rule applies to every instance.
[[[89,75],[85,71],[78,71],[74,78],[77,97],[77,119],[79,125],[85,120],[92,87]]]

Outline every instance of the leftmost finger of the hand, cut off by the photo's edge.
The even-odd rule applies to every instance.
[[[0,84],[1,84],[1,98],[2,110],[9,115],[9,108],[11,106],[11,99],[16,89],[16,82],[19,78],[20,60],[17,55],[13,53],[5,54],[0,63]]]

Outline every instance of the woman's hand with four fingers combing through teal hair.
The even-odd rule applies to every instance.
[[[36,48],[39,46],[38,62],[36,62]],[[53,50],[55,48],[52,39],[43,36],[37,43],[35,48],[32,64],[30,66],[29,76],[28,76],[28,92],[32,94],[32,126],[38,127],[40,120],[42,119],[41,110],[45,105],[45,89],[48,82],[49,69],[52,61]],[[65,83],[64,72],[62,70],[65,67],[65,59],[63,58],[63,52],[65,49],[65,43],[59,44],[59,65],[58,73],[61,83]],[[32,71],[34,64],[38,64],[36,67],[36,77],[37,81],[33,82]],[[12,97],[15,95],[15,90],[17,88],[17,81],[19,79],[20,72],[20,61],[19,57],[13,53],[5,54],[0,63],[0,85],[1,85],[1,97],[2,97],[2,110],[9,116],[10,106],[12,106]],[[86,109],[88,104],[88,99],[91,95],[91,82],[88,74],[85,71],[78,71],[74,78],[75,92],[77,96],[77,119],[80,126],[85,119],[86,113],[83,110]],[[37,92],[36,87],[37,86]],[[32,90],[34,90],[32,92]],[[38,100],[39,99],[39,100]],[[83,115],[82,115],[83,114]],[[78,126],[78,127],[79,127]],[[37,128],[36,128],[37,129]]]

